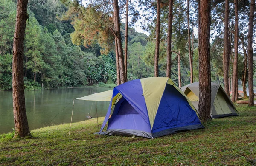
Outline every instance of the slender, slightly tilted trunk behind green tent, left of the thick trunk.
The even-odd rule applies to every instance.
[[[189,23],[189,0],[187,0],[187,21],[188,21],[188,44],[189,44],[189,65],[190,65],[190,83],[193,83],[193,62],[190,42],[190,23]]]

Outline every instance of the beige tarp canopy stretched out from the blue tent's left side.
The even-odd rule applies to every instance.
[[[94,93],[89,96],[84,96],[76,98],[76,100],[87,100],[87,101],[111,101],[113,90],[108,90],[105,92]]]

